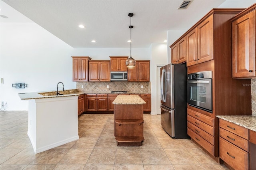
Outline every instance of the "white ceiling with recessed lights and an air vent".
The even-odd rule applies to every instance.
[[[35,22],[74,48],[128,48],[132,12],[132,47],[148,48],[163,43],[168,30],[188,30],[224,1],[193,0],[178,10],[182,0],[1,0],[8,18],[0,21]]]

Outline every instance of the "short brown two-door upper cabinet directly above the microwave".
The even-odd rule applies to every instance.
[[[127,71],[126,59],[128,57],[110,56],[110,71]]]

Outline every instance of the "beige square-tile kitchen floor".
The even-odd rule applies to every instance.
[[[61,118],[60,118],[61,119]],[[34,154],[27,111],[0,112],[1,170],[224,170],[190,139],[172,139],[160,115],[144,115],[142,146],[117,146],[112,114],[84,114],[79,140]],[[57,135],[57,134],[56,134]]]

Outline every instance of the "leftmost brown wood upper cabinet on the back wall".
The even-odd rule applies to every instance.
[[[75,57],[73,60],[73,81],[88,81],[88,61],[90,57]]]

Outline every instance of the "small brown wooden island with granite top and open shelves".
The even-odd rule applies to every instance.
[[[114,136],[117,145],[141,146],[143,136],[143,105],[138,95],[118,95],[114,104]]]

